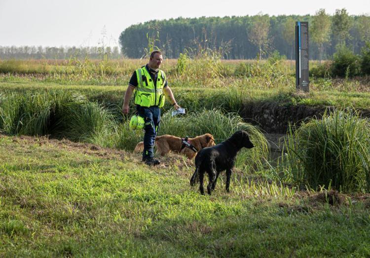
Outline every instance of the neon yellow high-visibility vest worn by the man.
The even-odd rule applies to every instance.
[[[138,78],[138,87],[135,88],[134,93],[135,104],[143,107],[163,107],[163,86],[166,82],[166,74],[164,71],[158,71],[157,83],[155,86],[146,66],[136,70],[136,77]]]

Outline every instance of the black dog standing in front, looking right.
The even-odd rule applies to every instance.
[[[249,140],[247,132],[241,130],[220,144],[200,150],[195,157],[195,172],[190,179],[190,185],[193,186],[199,176],[199,190],[201,194],[204,194],[203,178],[204,172],[207,172],[209,176],[207,192],[211,194],[211,191],[215,190],[220,172],[226,170],[226,191],[229,192],[231,169],[235,163],[235,156],[243,147],[250,149],[254,145]]]

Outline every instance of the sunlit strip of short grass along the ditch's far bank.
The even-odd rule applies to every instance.
[[[49,90],[64,89],[75,91],[86,96],[89,101],[98,101],[105,107],[111,107],[119,111],[122,107],[126,83],[123,86],[84,86],[84,85],[60,85],[55,83],[40,82],[0,82],[2,93],[44,92]],[[358,109],[368,109],[370,106],[370,93],[353,91],[311,91],[309,94],[296,94],[295,86],[281,88],[262,88],[248,84],[248,81],[234,81],[228,88],[207,90],[194,87],[171,88],[176,99],[182,107],[188,111],[198,111],[202,108],[212,109],[222,107],[228,111],[238,111],[245,104],[272,103],[275,105],[308,105],[308,106],[353,106]],[[133,101],[131,101],[133,102]],[[132,104],[132,103],[131,103]],[[166,101],[165,110],[170,108]]]

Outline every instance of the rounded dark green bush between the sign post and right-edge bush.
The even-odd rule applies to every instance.
[[[360,59],[346,46],[338,48],[332,65],[333,76],[353,77],[360,74]]]

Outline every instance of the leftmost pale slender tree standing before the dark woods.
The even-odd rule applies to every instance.
[[[267,14],[258,15],[253,17],[252,26],[249,29],[249,40],[255,44],[259,49],[259,58],[262,56],[262,47],[268,43],[268,32],[270,29],[270,19]]]

